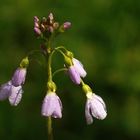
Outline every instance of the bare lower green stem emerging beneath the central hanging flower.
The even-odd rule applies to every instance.
[[[48,123],[47,123],[47,127],[48,127],[48,140],[53,140],[53,129],[52,129],[52,119],[51,116],[48,117],[47,119]]]

